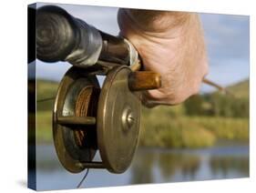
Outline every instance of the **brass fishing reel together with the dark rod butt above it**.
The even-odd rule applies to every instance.
[[[53,110],[53,137],[68,171],[107,168],[122,173],[138,146],[141,93],[160,87],[160,76],[141,71],[128,40],[98,31],[64,9],[36,13],[36,57],[73,66],[62,78]],[[100,87],[97,75],[106,76]],[[99,151],[102,161],[94,161]]]

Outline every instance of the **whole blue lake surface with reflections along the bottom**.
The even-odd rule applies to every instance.
[[[96,158],[99,158],[98,154]],[[67,172],[58,162],[52,145],[37,146],[36,159],[38,190],[76,188],[85,174]],[[246,145],[228,144],[203,149],[140,147],[125,173],[111,174],[106,169],[90,169],[82,187],[246,177],[249,177],[249,147]]]

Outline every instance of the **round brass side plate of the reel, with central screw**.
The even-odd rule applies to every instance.
[[[97,107],[97,146],[108,171],[124,172],[138,146],[140,101],[128,87],[128,66],[108,73]]]

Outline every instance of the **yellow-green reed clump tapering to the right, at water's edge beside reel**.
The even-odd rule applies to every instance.
[[[140,146],[210,147],[216,140],[212,132],[187,118],[169,117],[155,121],[143,117],[141,125]]]

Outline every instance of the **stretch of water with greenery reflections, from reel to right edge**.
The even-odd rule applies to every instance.
[[[243,178],[249,177],[249,155],[246,147],[140,150],[130,170],[130,184]]]

